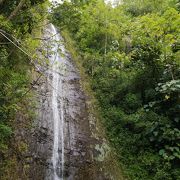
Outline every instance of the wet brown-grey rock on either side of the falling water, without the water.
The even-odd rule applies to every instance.
[[[45,39],[52,36],[49,27],[45,30],[44,36]],[[52,44],[52,39],[44,42],[47,52],[53,49]],[[45,72],[44,78],[36,86],[37,101],[39,102],[38,117],[35,121],[34,133],[30,143],[31,152],[33,152],[32,157],[27,158],[27,162],[31,163],[33,161],[31,163],[30,179],[52,180],[54,176],[52,163],[54,143],[52,96],[54,90],[56,90],[59,95],[57,97],[59,117],[62,115],[60,111],[63,110],[64,118],[64,142],[59,140],[59,159],[56,174],[59,177],[63,174],[66,180],[110,180],[112,178],[106,174],[102,161],[98,161],[98,157],[106,154],[101,149],[103,140],[93,136],[96,133],[96,122],[89,115],[90,97],[85,95],[81,88],[80,75],[70,54],[66,50],[64,54],[65,56],[59,59],[60,62],[57,62],[60,66],[59,72],[53,71],[50,66],[49,70]],[[51,57],[48,55],[48,57],[52,58],[53,55]],[[57,73],[58,79],[61,80],[61,88],[54,89],[52,86],[53,73]],[[61,139],[61,136],[60,133],[59,139]],[[62,143],[64,150],[62,150]],[[63,172],[61,167],[63,162],[62,152],[64,152]],[[99,167],[102,169],[99,170]]]

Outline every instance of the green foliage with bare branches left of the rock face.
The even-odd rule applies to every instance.
[[[27,114],[32,59],[37,40],[33,29],[45,17],[45,0],[0,1],[0,179],[17,113]],[[29,55],[27,55],[27,52]]]

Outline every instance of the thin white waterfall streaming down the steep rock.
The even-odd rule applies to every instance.
[[[62,76],[59,71],[63,67],[63,57],[58,52],[64,51],[64,47],[59,45],[61,40],[54,25],[51,25],[51,51],[50,63],[52,65],[52,114],[54,123],[53,139],[53,179],[63,180],[64,175],[64,108],[63,108],[63,87]]]

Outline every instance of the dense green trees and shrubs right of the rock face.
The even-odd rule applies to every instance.
[[[53,21],[83,57],[108,137],[130,179],[180,178],[180,2],[65,2]]]

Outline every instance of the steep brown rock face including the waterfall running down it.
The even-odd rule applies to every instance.
[[[49,25],[44,39],[49,66],[41,67],[44,76],[36,86],[38,116],[30,138],[29,179],[117,179],[107,171],[109,148],[96,132],[96,119],[88,109],[91,100],[62,37]]]

